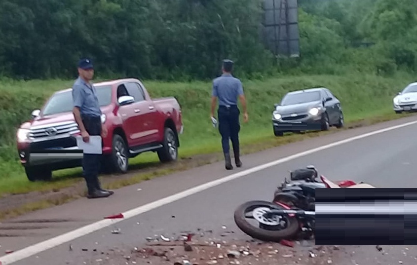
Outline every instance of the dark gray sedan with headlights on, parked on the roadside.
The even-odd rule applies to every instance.
[[[341,102],[324,87],[289,92],[272,112],[275,136],[284,132],[326,131],[330,126],[341,128],[343,122]]]

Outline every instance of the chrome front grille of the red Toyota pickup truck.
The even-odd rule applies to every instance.
[[[32,140],[49,140],[54,138],[66,137],[78,133],[78,125],[74,121],[57,123],[44,127],[32,128],[28,134]]]

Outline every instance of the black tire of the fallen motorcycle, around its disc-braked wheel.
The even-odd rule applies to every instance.
[[[237,227],[239,227],[243,232],[250,235],[251,237],[262,241],[278,242],[281,239],[291,239],[292,237],[296,236],[300,231],[300,226],[297,218],[289,216],[285,216],[285,218],[287,219],[287,227],[282,230],[265,230],[260,227],[252,226],[250,223],[246,221],[245,212],[248,208],[253,210],[258,207],[284,209],[283,207],[276,205],[272,202],[262,200],[248,201],[241,204],[234,211],[234,222]]]

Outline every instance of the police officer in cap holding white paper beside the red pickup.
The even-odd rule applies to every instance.
[[[91,84],[94,76],[93,63],[84,58],[78,62],[78,78],[73,85],[73,114],[81,131],[84,142],[90,135],[107,136],[107,128],[101,122],[101,110],[97,99],[96,88]],[[100,154],[84,153],[82,169],[88,189],[88,198],[103,198],[114,192],[101,189],[98,179],[100,170]]]

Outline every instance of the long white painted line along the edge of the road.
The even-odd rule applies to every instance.
[[[369,133],[361,134],[361,135],[351,137],[351,138],[347,138],[347,139],[344,139],[344,140],[341,140],[341,141],[337,141],[337,142],[334,142],[334,143],[331,143],[331,144],[328,144],[328,145],[325,145],[325,146],[322,146],[322,147],[310,149],[308,151],[299,152],[299,153],[287,156],[285,158],[281,158],[281,159],[278,159],[278,160],[275,160],[275,161],[272,161],[272,162],[269,162],[269,163],[266,163],[266,164],[263,164],[263,165],[255,166],[255,167],[249,168],[247,170],[240,171],[240,172],[235,173],[235,174],[231,174],[231,175],[226,176],[224,178],[221,178],[221,179],[218,179],[218,180],[215,180],[215,181],[212,181],[212,182],[208,182],[208,183],[202,184],[200,186],[196,186],[196,187],[191,188],[191,189],[181,191],[181,192],[173,194],[171,196],[159,199],[157,201],[154,201],[154,202],[145,204],[143,206],[134,208],[132,210],[129,210],[127,212],[124,212],[123,213],[124,219],[101,220],[101,221],[98,221],[96,223],[87,225],[85,227],[80,227],[80,228],[78,228],[76,230],[73,230],[73,231],[70,231],[68,233],[65,233],[65,234],[62,234],[62,235],[59,235],[59,236],[56,236],[56,237],[52,237],[48,240],[39,242],[37,244],[34,244],[34,245],[26,247],[24,249],[18,250],[16,252],[11,253],[11,254],[7,254],[5,256],[0,257],[0,264],[1,265],[9,265],[9,264],[12,264],[14,262],[26,259],[26,258],[28,258],[30,256],[33,256],[33,255],[36,255],[36,254],[38,254],[42,251],[45,251],[45,250],[51,249],[53,247],[59,246],[61,244],[64,244],[66,242],[69,242],[71,240],[79,238],[81,236],[87,235],[89,233],[92,233],[92,232],[97,231],[99,229],[102,229],[104,227],[109,227],[113,224],[116,224],[118,222],[122,222],[126,219],[129,219],[129,218],[135,217],[137,215],[140,215],[142,213],[151,211],[151,210],[153,210],[155,208],[158,208],[160,206],[163,206],[163,205],[166,205],[168,203],[177,201],[179,199],[185,198],[187,196],[190,196],[192,194],[201,192],[203,190],[213,188],[213,187],[221,185],[223,183],[226,183],[226,182],[229,182],[229,181],[247,176],[249,174],[264,170],[266,168],[276,166],[276,165],[288,162],[290,160],[293,160],[293,159],[296,159],[296,158],[299,158],[299,157],[302,157],[302,156],[305,156],[305,155],[308,155],[308,154],[312,154],[312,153],[315,153],[315,152],[318,152],[318,151],[322,151],[322,150],[326,150],[326,149],[329,149],[329,148],[332,148],[332,147],[340,146],[342,144],[349,143],[349,142],[359,140],[359,139],[362,139],[362,138],[365,138],[365,137],[369,137],[369,136],[372,136],[372,135],[380,134],[380,133],[387,132],[387,131],[392,131],[392,130],[399,129],[399,128],[406,127],[406,126],[410,126],[410,125],[413,125],[413,124],[416,124],[416,123],[417,123],[417,121],[411,121],[411,122],[399,124],[399,125],[396,125],[396,126],[391,126],[391,127],[387,127],[387,128],[384,128],[384,129],[380,129],[380,130],[372,131],[372,132],[369,132]]]

